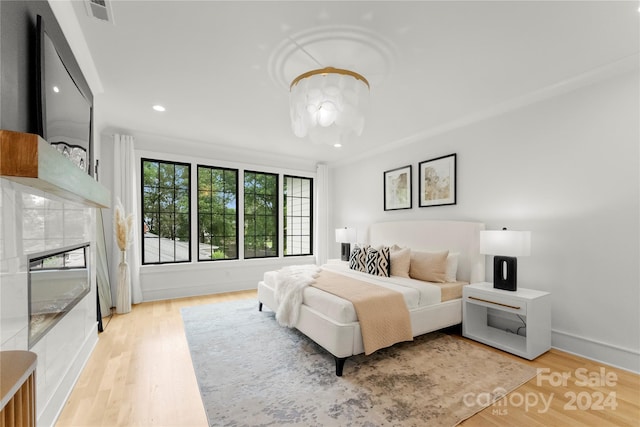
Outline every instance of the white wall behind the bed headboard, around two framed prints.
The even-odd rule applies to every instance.
[[[638,73],[624,74],[337,167],[330,227],[357,227],[362,241],[368,224],[405,219],[531,230],[518,285],[552,293],[553,345],[638,372],[638,93]],[[418,163],[450,153],[457,204],[418,208]],[[408,164],[413,209],[385,212],[383,171]]]

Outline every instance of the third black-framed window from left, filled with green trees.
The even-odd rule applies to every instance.
[[[278,256],[278,175],[244,173],[244,257]]]

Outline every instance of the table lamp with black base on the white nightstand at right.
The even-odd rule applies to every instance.
[[[518,259],[531,253],[531,232],[485,230],[480,232],[480,253],[493,257],[493,287],[517,290]]]

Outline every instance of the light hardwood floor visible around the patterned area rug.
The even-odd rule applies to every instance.
[[[180,309],[255,298],[246,291],[148,302],[114,315],[57,426],[206,426]],[[533,362],[509,357],[547,369],[546,375],[463,426],[640,426],[640,376],[557,350]],[[563,374],[565,384],[554,384]],[[589,385],[582,385],[584,377]]]

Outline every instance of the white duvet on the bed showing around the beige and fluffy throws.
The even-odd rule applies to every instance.
[[[421,280],[397,276],[372,276],[367,273],[351,270],[346,263],[329,263],[323,265],[322,269],[355,277],[359,280],[400,292],[409,310],[441,302],[440,287]],[[276,276],[276,271],[268,271],[264,274],[264,283],[272,290],[275,289]],[[313,308],[336,322],[350,323],[358,320],[353,304],[345,299],[316,289],[313,286],[306,287],[302,295],[304,305]]]

